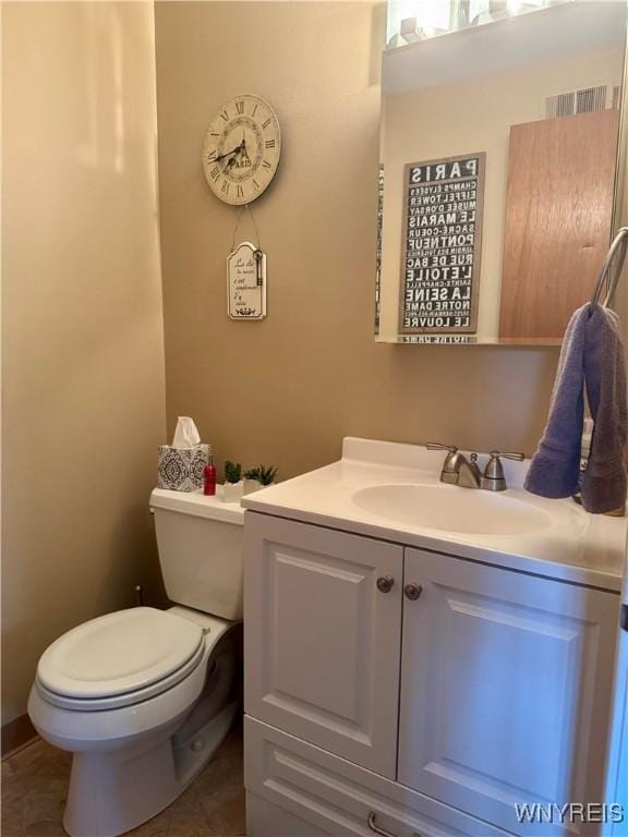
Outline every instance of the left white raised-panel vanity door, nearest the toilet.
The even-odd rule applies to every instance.
[[[402,548],[254,512],[245,520],[246,713],[392,777]],[[385,575],[387,593],[377,587]]]

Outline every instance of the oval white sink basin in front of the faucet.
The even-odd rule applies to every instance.
[[[364,511],[396,523],[476,535],[528,535],[548,529],[544,510],[526,500],[446,485],[376,485],[352,496]]]

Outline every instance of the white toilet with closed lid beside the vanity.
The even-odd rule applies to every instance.
[[[74,754],[63,826],[116,837],[167,808],[239,712],[244,509],[218,497],[150,495],[168,610],[92,619],[43,654],[28,714]]]

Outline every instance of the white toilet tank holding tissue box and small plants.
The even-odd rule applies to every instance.
[[[242,619],[240,504],[222,502],[219,495],[155,488],[150,510],[168,597],[224,619]]]

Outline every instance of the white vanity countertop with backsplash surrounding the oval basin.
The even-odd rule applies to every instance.
[[[504,460],[509,488],[507,500],[535,507],[551,518],[541,531],[526,534],[444,532],[427,525],[375,513],[358,505],[355,495],[375,486],[430,486],[443,502],[478,502],[497,495],[439,483],[445,451],[416,445],[346,438],[342,459],[325,468],[264,488],[242,499],[252,511],[329,526],[398,544],[447,553],[505,567],[619,592],[626,555],[626,518],[590,514],[573,500],[548,500],[522,487],[528,462]],[[485,459],[480,464],[484,466]],[[471,500],[471,495],[476,495]],[[498,507],[499,501],[497,501]]]

